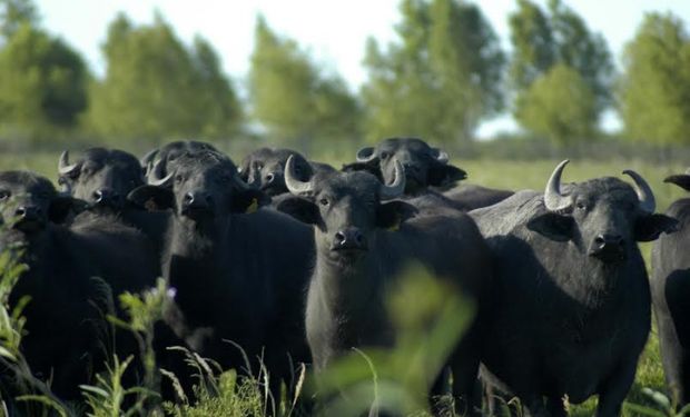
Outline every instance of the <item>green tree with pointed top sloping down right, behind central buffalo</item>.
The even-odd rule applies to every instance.
[[[273,139],[347,139],[359,135],[359,106],[341,77],[257,19],[248,77],[253,116]]]

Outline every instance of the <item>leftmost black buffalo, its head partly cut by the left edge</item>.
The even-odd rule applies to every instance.
[[[18,260],[29,268],[10,296],[11,307],[30,297],[21,350],[34,375],[51,379],[63,399],[80,398],[79,385],[92,383],[114,354],[103,332],[109,328],[105,315],[112,312],[108,284],[155,277],[155,266],[142,255],[150,248],[137,230],[106,218],[57,225],[73,203],[43,177],[0,172],[0,250],[19,248]],[[117,339],[120,357],[137,351],[134,344],[119,342],[126,339]]]

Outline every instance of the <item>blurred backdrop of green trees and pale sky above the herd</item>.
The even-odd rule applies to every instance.
[[[0,150],[690,156],[687,0],[0,0]]]

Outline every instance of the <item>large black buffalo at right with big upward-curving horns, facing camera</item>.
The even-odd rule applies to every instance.
[[[566,186],[561,162],[545,192],[520,191],[473,210],[496,266],[482,361],[487,379],[536,415],[599,395],[618,416],[650,330],[650,289],[637,241],[672,231],[654,197],[613,177]],[[496,379],[497,378],[497,379]],[[543,400],[545,397],[545,403]]]

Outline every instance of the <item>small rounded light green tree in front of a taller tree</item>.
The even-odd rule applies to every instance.
[[[559,63],[520,97],[516,119],[534,133],[559,145],[592,138],[597,122],[595,97],[571,67]]]

